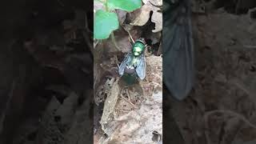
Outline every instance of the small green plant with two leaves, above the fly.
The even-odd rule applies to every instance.
[[[94,19],[94,38],[106,39],[114,30],[118,30],[118,14],[115,9],[131,12],[142,6],[141,0],[96,0],[102,2],[105,10],[97,10]]]

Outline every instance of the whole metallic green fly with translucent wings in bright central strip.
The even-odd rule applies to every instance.
[[[126,54],[126,57],[119,66],[118,73],[124,78],[127,84],[134,83],[137,78],[144,79],[146,77],[145,49],[145,40],[139,38],[133,43],[132,50]]]

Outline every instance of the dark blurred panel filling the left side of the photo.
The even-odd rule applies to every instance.
[[[0,143],[93,142],[93,1],[0,6]]]

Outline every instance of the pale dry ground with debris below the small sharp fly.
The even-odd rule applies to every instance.
[[[146,66],[146,79],[138,84],[126,87],[120,78],[110,77],[96,89],[95,143],[162,141],[162,58],[150,55]],[[102,113],[97,106],[101,102]]]

